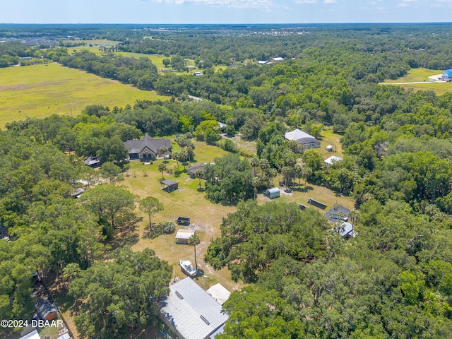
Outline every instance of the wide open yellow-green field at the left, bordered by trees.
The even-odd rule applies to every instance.
[[[124,107],[143,99],[167,97],[60,64],[0,69],[0,129],[26,117],[76,115],[88,105]]]

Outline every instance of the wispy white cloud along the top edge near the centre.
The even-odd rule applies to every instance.
[[[230,8],[254,8],[269,10],[275,7],[270,0],[148,0],[147,2],[158,2],[160,4],[175,5],[202,5],[212,7],[230,7]]]

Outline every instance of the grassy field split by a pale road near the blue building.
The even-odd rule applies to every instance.
[[[443,72],[443,70],[434,69],[410,69],[406,76],[396,80],[386,80],[384,83],[408,83],[399,86],[405,88],[405,90],[413,90],[415,92],[419,90],[433,90],[436,94],[441,95],[446,92],[452,92],[452,83],[430,83],[429,76],[435,76]],[[425,83],[412,83],[417,81],[425,81]]]

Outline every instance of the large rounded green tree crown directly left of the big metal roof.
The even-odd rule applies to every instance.
[[[124,248],[71,283],[80,299],[76,324],[82,338],[126,338],[133,328],[154,325],[159,297],[168,294],[172,269],[150,249]]]

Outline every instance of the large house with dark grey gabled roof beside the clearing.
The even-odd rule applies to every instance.
[[[153,138],[148,133],[141,140],[128,140],[124,142],[129,151],[130,160],[149,161],[155,160],[157,157],[171,156],[171,141],[169,139]],[[161,148],[166,147],[167,150],[162,153]]]

